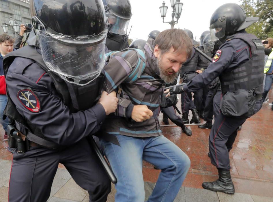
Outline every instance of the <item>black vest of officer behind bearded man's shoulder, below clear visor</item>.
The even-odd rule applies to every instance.
[[[113,35],[108,33],[105,45],[111,51],[121,51],[128,48],[128,35]]]

